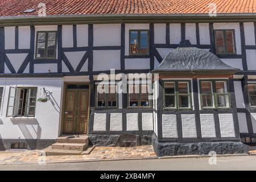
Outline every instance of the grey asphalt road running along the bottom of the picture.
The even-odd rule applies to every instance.
[[[209,158],[121,160],[59,164],[0,165],[0,170],[256,170],[256,156],[217,157],[216,164]]]

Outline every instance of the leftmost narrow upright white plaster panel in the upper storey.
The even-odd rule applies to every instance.
[[[15,48],[15,27],[5,27],[5,49]]]

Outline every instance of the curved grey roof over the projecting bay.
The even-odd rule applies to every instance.
[[[209,51],[196,47],[178,47],[170,51],[152,73],[160,72],[238,72]]]

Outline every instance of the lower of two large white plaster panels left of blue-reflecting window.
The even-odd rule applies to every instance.
[[[119,50],[93,51],[93,71],[109,71],[120,68]]]

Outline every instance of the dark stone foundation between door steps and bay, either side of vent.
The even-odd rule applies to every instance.
[[[119,147],[121,135],[89,134],[89,144]],[[136,135],[137,146],[151,145],[152,135]]]

